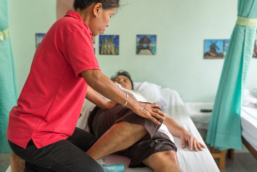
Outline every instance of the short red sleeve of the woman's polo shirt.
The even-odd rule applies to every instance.
[[[85,70],[100,70],[94,53],[92,37],[88,31],[79,29],[71,33],[63,46],[63,55],[73,67],[77,77]]]

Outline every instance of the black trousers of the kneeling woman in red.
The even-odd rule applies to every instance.
[[[26,149],[9,141],[13,152],[26,160],[26,172],[103,172],[101,166],[86,151],[96,138],[76,128],[67,140],[36,148],[30,140]]]

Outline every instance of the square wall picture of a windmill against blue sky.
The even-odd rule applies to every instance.
[[[217,59],[224,57],[223,39],[205,39],[204,40],[204,58]]]

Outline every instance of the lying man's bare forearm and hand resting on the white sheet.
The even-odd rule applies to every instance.
[[[165,117],[166,120],[163,121],[169,130],[169,132],[176,137],[180,138],[182,148],[185,147],[185,143],[188,142],[190,150],[203,150],[205,146],[202,143],[199,143],[198,140],[193,137],[188,131],[186,131],[183,127],[181,127],[175,120],[170,117]]]

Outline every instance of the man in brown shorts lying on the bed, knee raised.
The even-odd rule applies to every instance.
[[[133,82],[128,72],[119,71],[111,80],[137,101],[148,102],[140,93],[133,90]],[[89,89],[91,89],[90,92],[92,91],[92,94],[97,94],[92,88],[88,88],[88,92]],[[90,94],[87,93],[87,95]],[[171,134],[180,138],[182,148],[185,147],[186,142],[189,144],[190,150],[199,151],[205,147],[188,131],[167,116],[165,116],[166,119],[162,125],[157,125],[149,119],[134,114],[130,109],[116,104],[102,95],[99,96],[101,96],[99,100],[103,102],[103,106],[98,107],[93,104],[94,102],[90,102],[82,112],[77,127],[87,128],[86,130],[95,135],[97,139],[102,137],[104,133],[108,133],[104,137],[113,138],[113,142],[110,144],[123,147],[116,154],[127,156],[131,159],[130,168],[148,166],[154,172],[180,172],[176,155],[177,147],[173,143]],[[86,98],[90,99],[90,97]],[[122,131],[116,130],[116,128],[123,128],[117,125],[126,126],[132,124],[135,126],[134,136],[128,135],[131,132],[126,131],[126,127]],[[117,138],[119,138],[118,140],[121,139],[122,142],[117,144]]]

